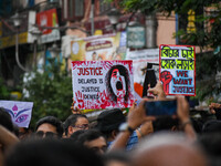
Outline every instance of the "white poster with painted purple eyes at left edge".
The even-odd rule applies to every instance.
[[[0,107],[11,115],[13,124],[18,127],[29,127],[33,102],[0,101]]]

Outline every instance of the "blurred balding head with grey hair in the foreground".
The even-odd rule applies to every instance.
[[[133,154],[133,166],[207,166],[203,152],[186,136],[156,134]]]

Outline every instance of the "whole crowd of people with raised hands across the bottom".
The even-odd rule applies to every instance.
[[[161,83],[148,90],[166,100]],[[0,166],[218,166],[221,164],[219,116],[193,118],[186,97],[177,96],[172,116],[149,116],[143,98],[129,108],[104,110],[96,122],[77,107],[65,122],[45,116],[35,131],[18,136],[0,108]],[[210,105],[219,115],[221,104]]]

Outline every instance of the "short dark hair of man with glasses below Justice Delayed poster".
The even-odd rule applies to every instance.
[[[77,122],[77,118],[80,117],[84,117],[84,118],[87,118],[86,115],[83,115],[83,114],[72,114],[70,115],[65,122],[64,122],[64,132],[65,132],[65,135],[67,135],[67,129],[69,129],[69,126],[71,125],[75,125],[76,122]]]

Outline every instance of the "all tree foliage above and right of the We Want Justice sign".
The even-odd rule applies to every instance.
[[[194,24],[197,31],[187,32],[187,30],[180,29],[175,37],[178,37],[182,43],[199,45],[201,50],[221,46],[220,0],[120,0],[119,6],[127,12],[139,10],[144,14],[160,12],[170,15],[175,11],[175,13],[183,17],[190,10],[196,11]],[[212,7],[213,12],[206,7]],[[200,9],[204,11],[200,12]],[[221,52],[217,55],[213,52],[197,55],[197,96],[200,100],[221,93],[220,83],[215,83],[215,73],[221,71],[220,63]]]

